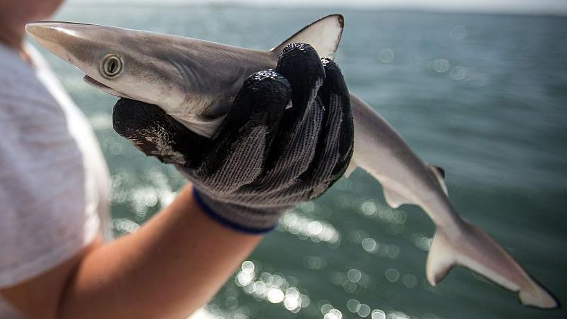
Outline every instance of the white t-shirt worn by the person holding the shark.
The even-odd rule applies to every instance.
[[[31,46],[0,45],[0,287],[78,253],[109,227],[109,174],[95,135]],[[18,318],[0,298],[0,318]]]

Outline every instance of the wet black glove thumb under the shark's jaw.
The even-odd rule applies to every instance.
[[[120,136],[163,163],[196,165],[202,149],[210,145],[210,140],[193,133],[159,107],[127,98],[114,105],[112,125]]]

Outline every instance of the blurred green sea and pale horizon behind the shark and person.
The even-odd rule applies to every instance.
[[[454,206],[567,302],[567,2],[563,0],[94,1],[55,19],[271,48],[345,16],[336,61],[350,87],[425,161]],[[43,51],[102,144],[117,235],[167,205],[184,179],[111,127],[114,97]],[[361,170],[290,211],[211,300],[219,318],[567,318],[462,268],[425,278],[434,227],[390,209]],[[186,243],[179,243],[183,245]]]

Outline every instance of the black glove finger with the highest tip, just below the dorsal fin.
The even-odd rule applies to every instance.
[[[325,71],[321,61],[312,46],[309,44],[289,44],[286,46],[278,60],[276,71],[283,75],[291,85],[292,107],[286,109],[278,130],[278,138],[274,143],[269,155],[268,165],[276,166],[276,161],[282,156],[287,156],[292,145],[303,145],[318,134],[318,122],[313,118],[312,111],[316,93],[323,84]],[[317,110],[321,113],[321,110]],[[311,122],[309,122],[311,121]],[[315,121],[315,125],[312,122]],[[304,129],[298,129],[300,125],[306,125]],[[305,135],[307,134],[307,135]],[[303,141],[298,141],[303,139]],[[309,152],[310,145],[294,147],[301,152]],[[309,154],[300,156],[309,160]],[[306,167],[305,167],[306,168]],[[303,170],[305,170],[305,168]]]

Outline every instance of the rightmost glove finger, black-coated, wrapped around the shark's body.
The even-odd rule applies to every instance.
[[[316,185],[312,198],[322,194],[344,174],[354,143],[350,95],[341,69],[328,58],[321,59],[321,62],[327,76],[318,95],[326,112],[315,158],[304,174],[305,181]]]

